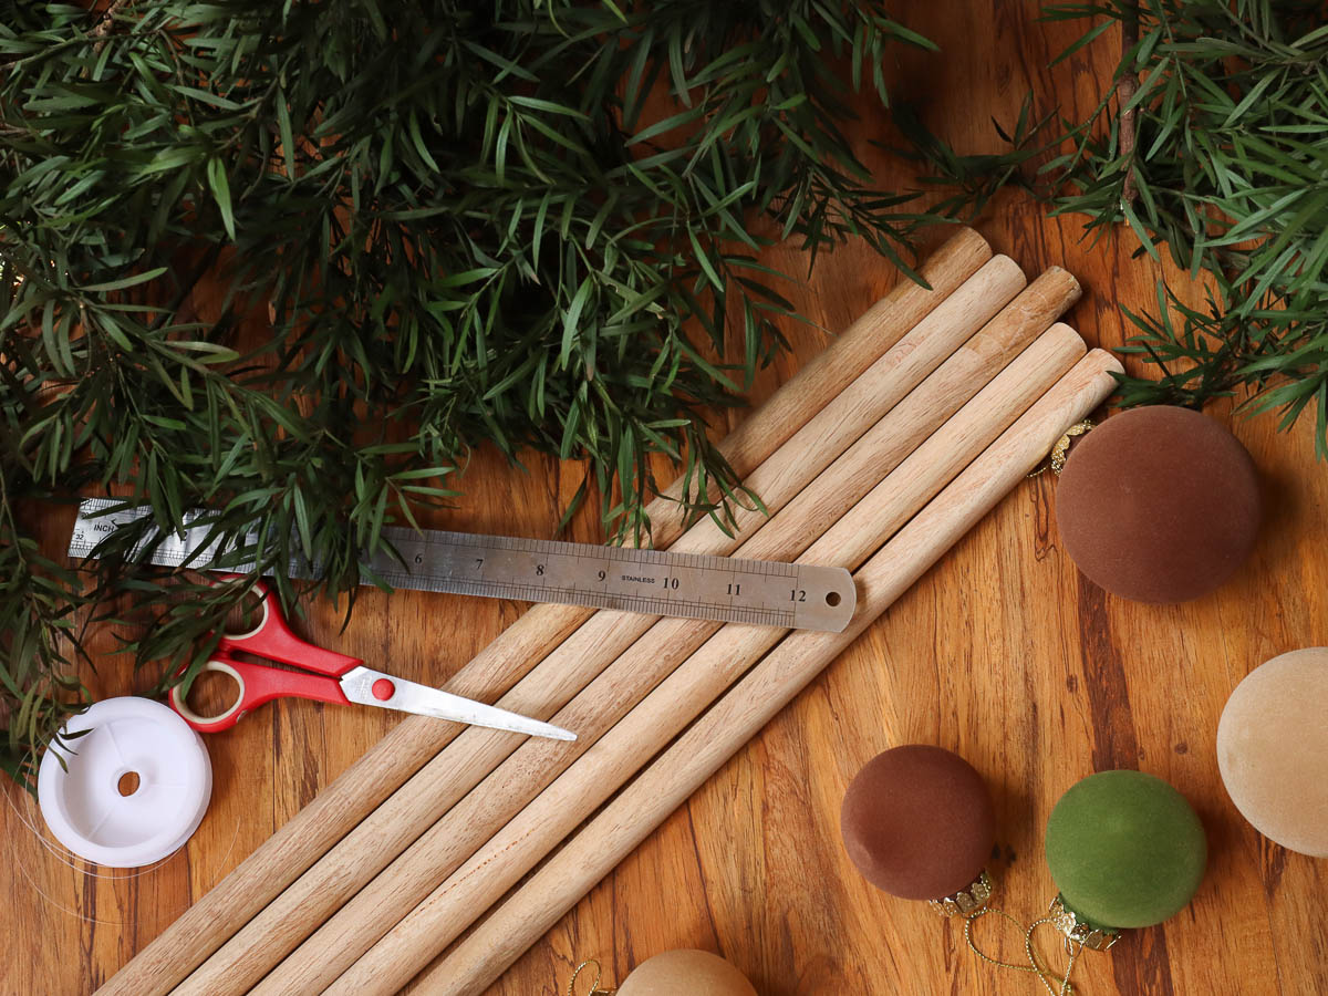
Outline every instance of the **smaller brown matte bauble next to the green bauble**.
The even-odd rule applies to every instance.
[[[996,842],[983,777],[959,754],[914,744],[876,754],[839,814],[849,858],[878,888],[943,899],[971,886]]]

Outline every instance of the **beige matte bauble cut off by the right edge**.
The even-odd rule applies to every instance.
[[[1328,858],[1328,648],[1274,657],[1236,685],[1218,724],[1218,768],[1254,829]]]

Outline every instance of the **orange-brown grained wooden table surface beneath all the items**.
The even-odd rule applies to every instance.
[[[965,151],[996,150],[991,117],[1007,126],[1028,88],[1038,106],[1090,109],[1109,78],[1114,41],[1045,66],[1076,31],[1042,25],[1032,4],[904,3],[899,17],[942,44],[891,72],[932,126]],[[867,146],[886,133],[867,113],[853,134],[884,186],[904,174]],[[1127,335],[1118,304],[1147,308],[1158,270],[1131,259],[1133,236],[1090,247],[1080,219],[1048,219],[1023,194],[1003,195],[977,220],[1029,275],[1061,264],[1085,286],[1069,320],[1090,344]],[[935,239],[934,239],[935,240]],[[769,262],[805,272],[797,251]],[[859,246],[823,259],[795,288],[805,315],[845,328],[895,280]],[[790,325],[791,356],[761,378],[766,396],[819,349],[822,332]],[[1224,413],[1218,413],[1226,418]],[[960,752],[996,797],[999,904],[1023,922],[1053,895],[1041,831],[1060,794],[1102,769],[1158,774],[1194,803],[1210,841],[1195,900],[1165,926],[1131,931],[1109,954],[1088,952],[1078,991],[1106,993],[1328,992],[1328,862],[1291,854],[1242,821],[1218,777],[1214,736],[1236,683],[1259,663],[1328,644],[1328,475],[1308,421],[1289,434],[1274,418],[1232,426],[1262,470],[1267,523],[1252,560],[1215,595],[1177,607],[1105,595],[1074,570],[1054,526],[1056,482],[1021,485],[789,709],[533,948],[489,996],[560,993],[583,957],[606,981],[660,951],[722,952],[764,996],[803,993],[1033,993],[1027,975],[971,956],[960,924],[867,886],[838,835],[847,781],[872,754],[906,742]],[[449,529],[550,535],[582,469],[533,457],[527,470],[475,456]],[[58,548],[68,513],[52,511]],[[579,540],[598,539],[582,515]],[[523,606],[416,592],[367,592],[344,632],[331,606],[305,633],[406,677],[444,681],[513,622]],[[109,637],[108,637],[109,639]],[[142,687],[126,660],[88,675],[98,696]],[[8,791],[0,839],[0,936],[9,951],[4,993],[82,993],[113,973],[207,887],[393,722],[374,709],[282,703],[212,737],[214,791],[189,846],[137,876],[85,876],[21,825],[29,799]],[[40,822],[39,822],[40,826]],[[1016,957],[1019,936],[983,922],[993,954]],[[1054,942],[1048,938],[1046,948]]]

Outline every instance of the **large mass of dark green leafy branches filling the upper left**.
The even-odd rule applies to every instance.
[[[791,315],[761,250],[857,236],[907,270],[922,220],[839,130],[850,89],[888,102],[891,45],[930,46],[869,0],[109,9],[0,0],[13,758],[77,699],[76,608],[130,595],[127,649],[166,681],[238,596],[174,598],[124,556],[74,575],[24,513],[206,506],[238,555],[303,554],[352,595],[384,523],[453,498],[481,442],[586,461],[578,499],[619,535],[649,526],[651,454],[722,517],[706,495],[740,482],[701,412],[737,404]]]

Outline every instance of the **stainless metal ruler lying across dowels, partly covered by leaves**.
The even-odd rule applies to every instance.
[[[84,499],[69,555],[96,556],[108,535],[149,514],[146,507],[109,511],[121,505],[112,498]],[[216,550],[205,548],[207,526],[191,525],[203,514],[187,513],[179,531],[153,550],[151,563],[178,567],[189,560],[191,568],[206,570]],[[393,526],[382,535],[405,566],[380,551],[365,567],[394,588],[833,632],[849,624],[857,604],[853,575],[842,567]],[[317,575],[304,560],[288,570],[295,578]]]

